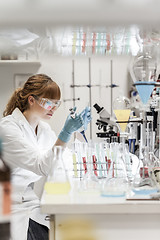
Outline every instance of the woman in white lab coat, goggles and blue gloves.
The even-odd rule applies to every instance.
[[[29,211],[19,228],[25,233],[23,239],[19,232],[21,240],[48,239],[48,222],[40,214],[35,186],[43,188],[54,146],[66,145],[72,133],[84,125],[84,119],[87,123],[91,120],[89,108],[74,119],[69,115],[57,139],[49,124],[42,120],[52,117],[60,106],[60,97],[60,88],[50,77],[34,75],[13,93],[0,122],[3,158],[12,169],[13,212]]]

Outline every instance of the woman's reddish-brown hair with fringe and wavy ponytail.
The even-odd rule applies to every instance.
[[[3,116],[12,114],[15,108],[19,108],[23,113],[28,109],[28,97],[30,95],[59,100],[61,91],[59,86],[47,75],[33,75],[25,82],[23,88],[14,91],[3,112]]]

